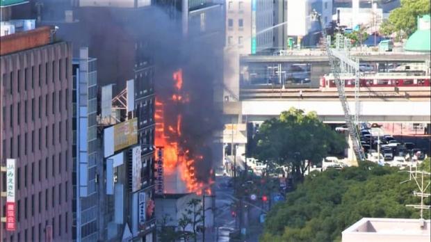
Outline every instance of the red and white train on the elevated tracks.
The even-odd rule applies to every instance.
[[[341,76],[344,80],[345,88],[355,88],[355,76]],[[379,90],[430,90],[430,76],[412,75],[407,73],[377,73],[359,76],[359,86],[361,88],[373,88]],[[320,89],[323,91],[336,90],[336,83],[333,74],[328,74],[320,78]]]

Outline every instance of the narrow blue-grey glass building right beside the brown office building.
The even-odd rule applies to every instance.
[[[100,201],[98,174],[103,172],[97,131],[97,59],[81,47],[73,59],[73,237],[74,241],[99,239]]]

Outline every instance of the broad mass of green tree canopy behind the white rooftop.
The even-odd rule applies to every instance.
[[[263,242],[341,241],[341,232],[364,217],[419,218],[414,181],[398,168],[360,163],[344,170],[312,172],[266,218]],[[428,187],[428,193],[430,188]],[[425,199],[430,204],[430,198]],[[424,211],[430,218],[430,211]]]

